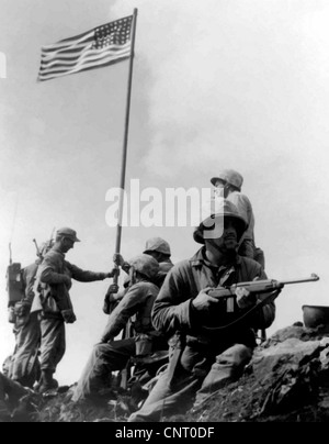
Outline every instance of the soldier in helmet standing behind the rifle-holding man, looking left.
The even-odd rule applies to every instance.
[[[254,244],[254,215],[250,200],[242,195],[243,177],[234,169],[224,169],[218,176],[213,177],[211,182],[217,188],[217,193],[232,202],[241,217],[247,221],[248,229],[240,241],[239,254],[257,260],[265,268],[264,253]]]

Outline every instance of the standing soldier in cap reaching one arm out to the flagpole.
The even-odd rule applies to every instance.
[[[41,370],[38,391],[45,392],[58,387],[53,378],[57,365],[66,351],[65,323],[73,323],[77,318],[69,297],[71,279],[80,282],[93,282],[114,277],[115,271],[83,271],[65,260],[65,255],[75,243],[80,242],[76,231],[65,227],[57,231],[56,242],[45,256],[37,273],[37,295],[32,308],[41,318]]]

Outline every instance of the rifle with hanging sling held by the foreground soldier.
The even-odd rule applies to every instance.
[[[247,315],[253,313],[256,310],[260,309],[261,307],[265,306],[269,302],[272,302],[276,297],[280,295],[281,290],[283,289],[284,286],[286,285],[294,285],[294,284],[304,284],[304,282],[316,282],[320,278],[316,274],[311,274],[309,278],[306,279],[295,279],[295,280],[273,280],[273,279],[265,279],[265,280],[253,280],[249,282],[239,282],[239,284],[234,284],[230,287],[227,288],[214,288],[207,291],[209,296],[213,298],[219,299],[219,300],[226,300],[227,303],[227,313],[232,313],[235,311],[235,298],[236,298],[236,289],[237,288],[246,288],[250,293],[253,295],[262,295],[262,293],[269,293],[266,298],[263,300],[257,300],[256,304],[249,309],[247,312],[245,312],[241,317],[236,319],[234,322],[223,325],[223,326],[216,326],[216,328],[207,328],[203,326],[205,330],[209,331],[215,331],[215,330],[224,330],[227,329],[228,326],[232,326],[236,323],[240,322],[242,319],[245,319]]]

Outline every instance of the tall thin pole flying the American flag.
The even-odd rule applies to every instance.
[[[120,180],[120,203],[118,203],[118,221],[116,226],[116,242],[115,242],[115,253],[121,252],[121,238],[122,238],[122,222],[123,222],[123,210],[124,210],[124,195],[125,195],[125,182],[126,182],[126,165],[127,165],[127,153],[128,153],[128,134],[129,134],[129,116],[131,116],[131,99],[132,99],[132,85],[133,85],[133,70],[134,70],[134,58],[135,58],[135,40],[136,40],[136,24],[137,24],[138,9],[134,9],[134,18],[132,25],[132,52],[129,58],[129,74],[128,74],[128,88],[127,88],[127,101],[126,101],[126,116],[125,116],[125,132],[124,132],[124,143],[122,152],[122,165],[121,165],[121,180]],[[117,284],[118,274],[114,277],[113,282]]]

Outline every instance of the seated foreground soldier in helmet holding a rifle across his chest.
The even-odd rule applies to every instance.
[[[232,300],[208,295],[211,288],[266,279],[260,264],[237,254],[247,227],[231,202],[217,197],[209,202],[207,218],[194,232],[194,240],[204,246],[172,268],[155,302],[152,322],[172,336],[171,359],[131,422],[159,421],[162,414],[183,413],[193,403],[197,408],[212,392],[237,379],[251,359],[254,330],[272,324],[274,302],[235,324],[265,295],[254,296],[243,287]],[[232,325],[218,330],[220,323]]]

